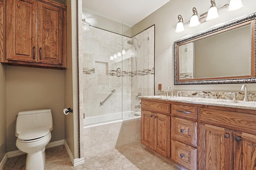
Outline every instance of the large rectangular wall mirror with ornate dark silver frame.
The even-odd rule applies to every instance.
[[[256,82],[256,13],[174,42],[174,85]]]

